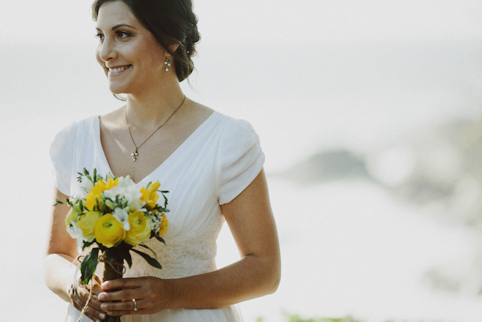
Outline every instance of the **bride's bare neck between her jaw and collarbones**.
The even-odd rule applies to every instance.
[[[127,94],[126,113],[133,128],[151,128],[165,121],[184,99],[180,85],[169,82],[140,94]]]

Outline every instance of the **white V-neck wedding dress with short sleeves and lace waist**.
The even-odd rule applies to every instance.
[[[82,194],[77,172],[94,168],[100,174],[112,172],[100,138],[99,118],[73,123],[56,135],[50,149],[56,187],[63,194]],[[142,154],[140,155],[142,157]],[[169,190],[169,229],[166,245],[147,242],[163,266],[151,267],[133,254],[132,268],[125,277],[157,276],[176,279],[216,270],[216,239],[224,223],[220,205],[229,203],[262,170],[264,154],[257,134],[247,121],[219,112],[196,129],[156,170],[139,182],[159,181]],[[115,175],[115,173],[114,173]],[[161,197],[162,199],[162,197]],[[65,321],[77,321],[80,312],[69,305]],[[82,321],[91,321],[85,316]],[[156,314],[123,316],[123,322],[158,321],[242,321],[235,305],[218,309],[162,310]]]

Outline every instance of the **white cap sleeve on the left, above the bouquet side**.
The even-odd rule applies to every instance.
[[[55,185],[67,196],[70,195],[75,135],[76,127],[73,124],[57,133],[50,145],[50,161],[52,161]]]

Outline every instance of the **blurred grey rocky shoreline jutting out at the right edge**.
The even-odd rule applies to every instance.
[[[468,262],[444,263],[423,276],[432,288],[482,294],[482,119],[426,126],[374,151],[322,150],[273,174],[303,184],[367,180],[390,195],[474,236]]]

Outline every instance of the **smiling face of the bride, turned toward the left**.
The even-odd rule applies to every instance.
[[[97,36],[97,61],[113,93],[136,94],[162,81],[166,52],[125,3],[101,6]]]

